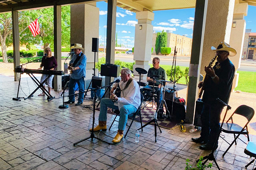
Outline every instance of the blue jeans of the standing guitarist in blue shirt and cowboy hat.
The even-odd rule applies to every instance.
[[[84,92],[84,77],[80,78],[80,79],[72,79],[70,78],[69,80],[69,95],[74,94],[75,93],[75,84],[78,84],[78,88],[79,88],[79,93],[80,92]],[[73,96],[69,96],[68,97],[69,101],[74,102],[75,101],[75,95]],[[84,93],[80,93],[78,96],[78,102],[83,102],[84,101]]]

